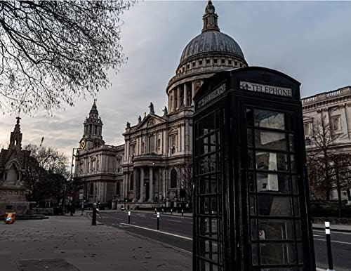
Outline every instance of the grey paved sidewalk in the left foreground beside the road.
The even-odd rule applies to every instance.
[[[0,223],[1,270],[192,270],[192,256],[78,214]]]

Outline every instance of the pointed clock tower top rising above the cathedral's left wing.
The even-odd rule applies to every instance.
[[[89,116],[84,121],[84,134],[79,141],[79,147],[81,150],[89,150],[102,144],[105,144],[105,141],[102,140],[102,121],[96,107],[96,100],[94,100]]]

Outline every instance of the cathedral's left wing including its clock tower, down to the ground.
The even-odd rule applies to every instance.
[[[81,184],[84,199],[111,206],[122,199],[124,145],[112,146],[102,139],[102,120],[95,100],[84,121],[84,133],[74,153],[74,178]]]

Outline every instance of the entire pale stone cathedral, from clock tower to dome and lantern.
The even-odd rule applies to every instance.
[[[102,121],[94,103],[75,155],[75,176],[84,183],[89,201],[124,199],[133,208],[176,206],[186,200],[181,168],[192,157],[192,98],[216,72],[248,65],[237,41],[220,31],[211,1],[202,20],[201,34],[185,46],[176,74],[166,86],[168,107],[162,116],[155,114],[150,103],[143,119],[127,122],[124,145],[108,146],[102,140]]]

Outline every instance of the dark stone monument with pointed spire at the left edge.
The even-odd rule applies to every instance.
[[[29,151],[22,150],[22,133],[20,117],[10,136],[8,150],[0,152],[0,215],[6,212],[27,214],[29,202],[26,201],[27,188],[23,183],[23,175]]]

